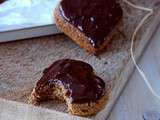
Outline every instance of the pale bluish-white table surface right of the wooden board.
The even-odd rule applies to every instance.
[[[139,66],[160,95],[160,28],[146,48]],[[160,101],[153,97],[142,77],[135,70],[113,108],[109,120],[143,120],[144,112],[155,110],[160,112]]]

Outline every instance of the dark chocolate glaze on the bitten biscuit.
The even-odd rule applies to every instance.
[[[77,60],[58,60],[45,69],[36,92],[39,96],[49,97],[55,85],[64,86],[72,103],[94,102],[105,93],[105,83],[94,74],[93,68]]]

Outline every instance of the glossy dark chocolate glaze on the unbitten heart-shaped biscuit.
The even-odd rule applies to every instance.
[[[62,0],[60,12],[65,20],[89,38],[95,48],[103,44],[122,18],[117,0]]]

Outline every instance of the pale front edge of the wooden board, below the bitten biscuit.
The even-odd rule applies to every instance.
[[[3,120],[89,120],[26,103],[0,99],[0,119]],[[19,117],[18,117],[19,116]],[[18,119],[19,118],[19,119]]]

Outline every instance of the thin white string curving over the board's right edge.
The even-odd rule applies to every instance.
[[[156,97],[157,99],[160,100],[160,96],[154,91],[153,87],[151,86],[151,84],[149,83],[149,80],[147,79],[145,73],[143,72],[143,70],[138,66],[138,64],[136,63],[136,60],[135,60],[135,57],[134,57],[134,54],[133,54],[133,45],[134,45],[134,40],[135,40],[135,37],[137,35],[137,32],[139,31],[139,29],[142,27],[142,25],[144,24],[144,22],[153,14],[153,9],[150,9],[150,8],[145,8],[145,7],[142,7],[142,6],[137,6],[137,5],[134,5],[133,3],[127,1],[127,0],[123,0],[126,4],[132,6],[133,8],[136,8],[136,9],[140,9],[140,10],[143,10],[143,11],[147,11],[149,12],[148,14],[146,14],[144,16],[144,18],[140,21],[140,23],[138,24],[138,26],[135,28],[135,31],[133,32],[132,34],[132,37],[131,37],[131,48],[130,48],[130,52],[131,52],[131,58],[133,60],[133,63],[135,65],[135,67],[137,68],[138,72],[140,73],[140,75],[142,76],[144,82],[146,83],[146,85],[148,86],[150,92],[152,93],[152,95],[154,97]]]

